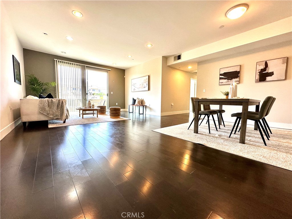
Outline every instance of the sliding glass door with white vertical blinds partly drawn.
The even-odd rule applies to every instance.
[[[107,69],[110,70],[110,69]],[[67,100],[70,112],[91,103],[108,105],[107,72],[73,62],[55,60],[57,98]]]

